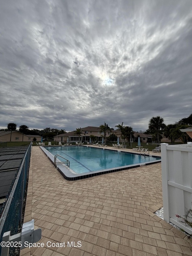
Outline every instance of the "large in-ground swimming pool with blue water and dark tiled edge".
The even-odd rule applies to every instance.
[[[64,165],[61,167],[60,164],[58,170],[64,167],[68,170],[68,174],[71,173],[71,175],[75,177],[81,176],[80,179],[82,179],[82,176],[86,178],[90,176],[90,174],[97,173],[98,175],[109,173],[161,161],[160,157],[144,156],[136,153],[122,152],[120,150],[100,149],[88,146],[51,146],[41,148],[52,162],[56,154],[68,159],[70,161],[70,168]],[[62,158],[58,157],[58,159],[63,161]]]

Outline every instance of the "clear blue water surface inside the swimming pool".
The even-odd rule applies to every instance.
[[[141,156],[115,150],[99,149],[86,146],[45,147],[52,155],[61,155],[70,161],[70,169],[75,173],[124,167],[132,164],[141,164],[160,160],[158,157]],[[62,158],[57,158],[61,161]]]

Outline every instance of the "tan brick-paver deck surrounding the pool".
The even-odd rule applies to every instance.
[[[154,214],[161,206],[161,163],[67,181],[33,146],[24,222],[35,219],[45,246],[20,255],[192,255],[192,239]],[[48,241],[65,247],[47,247]]]

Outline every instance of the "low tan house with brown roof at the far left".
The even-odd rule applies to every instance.
[[[36,138],[37,141],[41,141],[41,136],[39,135],[25,135],[20,131],[0,131],[0,142],[7,141],[33,141]]]

